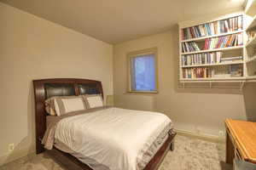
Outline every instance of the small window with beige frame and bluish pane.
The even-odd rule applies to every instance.
[[[157,48],[128,54],[129,92],[157,92]]]

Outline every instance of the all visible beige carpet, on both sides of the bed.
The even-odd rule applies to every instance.
[[[224,163],[224,144],[178,135],[159,170],[231,170]],[[26,156],[0,170],[65,170],[46,154]]]

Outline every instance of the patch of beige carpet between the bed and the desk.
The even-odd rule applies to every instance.
[[[232,170],[224,160],[225,144],[177,136],[175,150],[167,153],[160,170]]]

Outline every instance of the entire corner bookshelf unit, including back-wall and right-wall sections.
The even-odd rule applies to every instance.
[[[255,82],[256,0],[241,13],[179,23],[179,48],[181,82]]]

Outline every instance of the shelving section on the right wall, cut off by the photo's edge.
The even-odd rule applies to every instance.
[[[256,79],[256,1],[250,0],[245,10],[245,48],[247,80]]]

